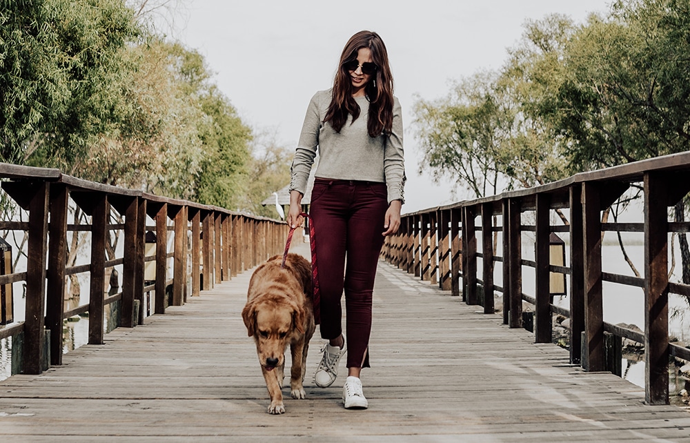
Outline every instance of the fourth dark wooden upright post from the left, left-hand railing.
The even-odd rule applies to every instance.
[[[132,328],[135,325],[135,281],[137,268],[137,219],[139,198],[130,200],[125,209],[124,263],[122,264],[122,315],[119,326]]]

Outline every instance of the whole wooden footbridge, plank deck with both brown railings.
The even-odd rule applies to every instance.
[[[26,283],[25,320],[0,328],[0,338],[12,339],[17,372],[0,382],[0,435],[18,442],[690,442],[690,415],[668,405],[669,357],[690,359],[667,332],[668,293],[686,294],[688,286],[668,281],[665,261],[668,233],[690,230],[667,215],[687,193],[689,170],[690,155],[660,157],[406,215],[377,276],[373,368],[363,373],[370,408],[342,408],[342,375],[331,388],[313,385],[315,338],[308,399],[288,399],[286,414],[271,416],[239,313],[251,268],[281,252],[284,224],[56,170],[3,165],[0,175],[9,179],[3,190],[28,210],[28,222],[0,227],[28,233],[29,259],[26,270],[0,276],[0,285]],[[601,210],[638,182],[644,220],[602,223]],[[68,223],[75,204],[90,215],[90,225]],[[556,209],[568,210],[566,228],[551,226]],[[533,225],[520,217],[529,211]],[[118,230],[124,250],[108,256],[108,239]],[[146,253],[148,230],[157,234],[154,255]],[[646,277],[602,271],[607,230],[644,233]],[[554,231],[570,235],[566,266],[550,264],[544,238]],[[66,265],[70,232],[90,233],[89,264]],[[524,232],[535,235],[533,260],[520,250]],[[502,255],[490,247],[496,237]],[[306,253],[304,244],[298,247]],[[149,262],[157,269],[153,282],[144,279]],[[494,283],[495,264],[503,286]],[[112,268],[121,269],[122,291],[106,295]],[[535,270],[533,295],[522,293],[523,268]],[[568,275],[569,309],[550,304],[544,286],[550,272]],[[72,273],[90,275],[90,302],[66,311],[64,282]],[[644,288],[644,333],[603,321],[604,281]],[[502,294],[500,315],[485,292]],[[146,293],[154,297],[151,317],[143,314]],[[534,306],[535,333],[521,327],[522,302]],[[63,319],[86,311],[90,344],[63,355]],[[569,350],[551,344],[553,313],[571,317]],[[104,325],[113,322],[121,327],[106,334]],[[607,333],[646,345],[645,388],[605,371]]]

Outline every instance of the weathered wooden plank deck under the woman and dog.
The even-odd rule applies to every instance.
[[[240,311],[250,273],[171,306],[63,366],[0,382],[3,442],[138,441],[604,441],[690,442],[690,414],[646,406],[644,390],[609,373],[584,373],[568,351],[534,344],[499,315],[467,306],[380,264],[374,294],[367,411],[311,381],[307,400],[266,413],[268,395]],[[344,362],[341,362],[344,373]],[[288,371],[286,371],[287,373]],[[284,395],[289,392],[284,389]]]

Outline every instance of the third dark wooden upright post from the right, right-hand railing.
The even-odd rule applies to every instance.
[[[570,362],[580,364],[584,331],[582,186],[570,186]]]

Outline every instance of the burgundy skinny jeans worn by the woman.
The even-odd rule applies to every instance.
[[[347,367],[369,367],[371,299],[384,243],[386,184],[317,178],[311,194],[321,291],[321,337],[342,333],[345,291]],[[347,257],[347,260],[346,260]]]

